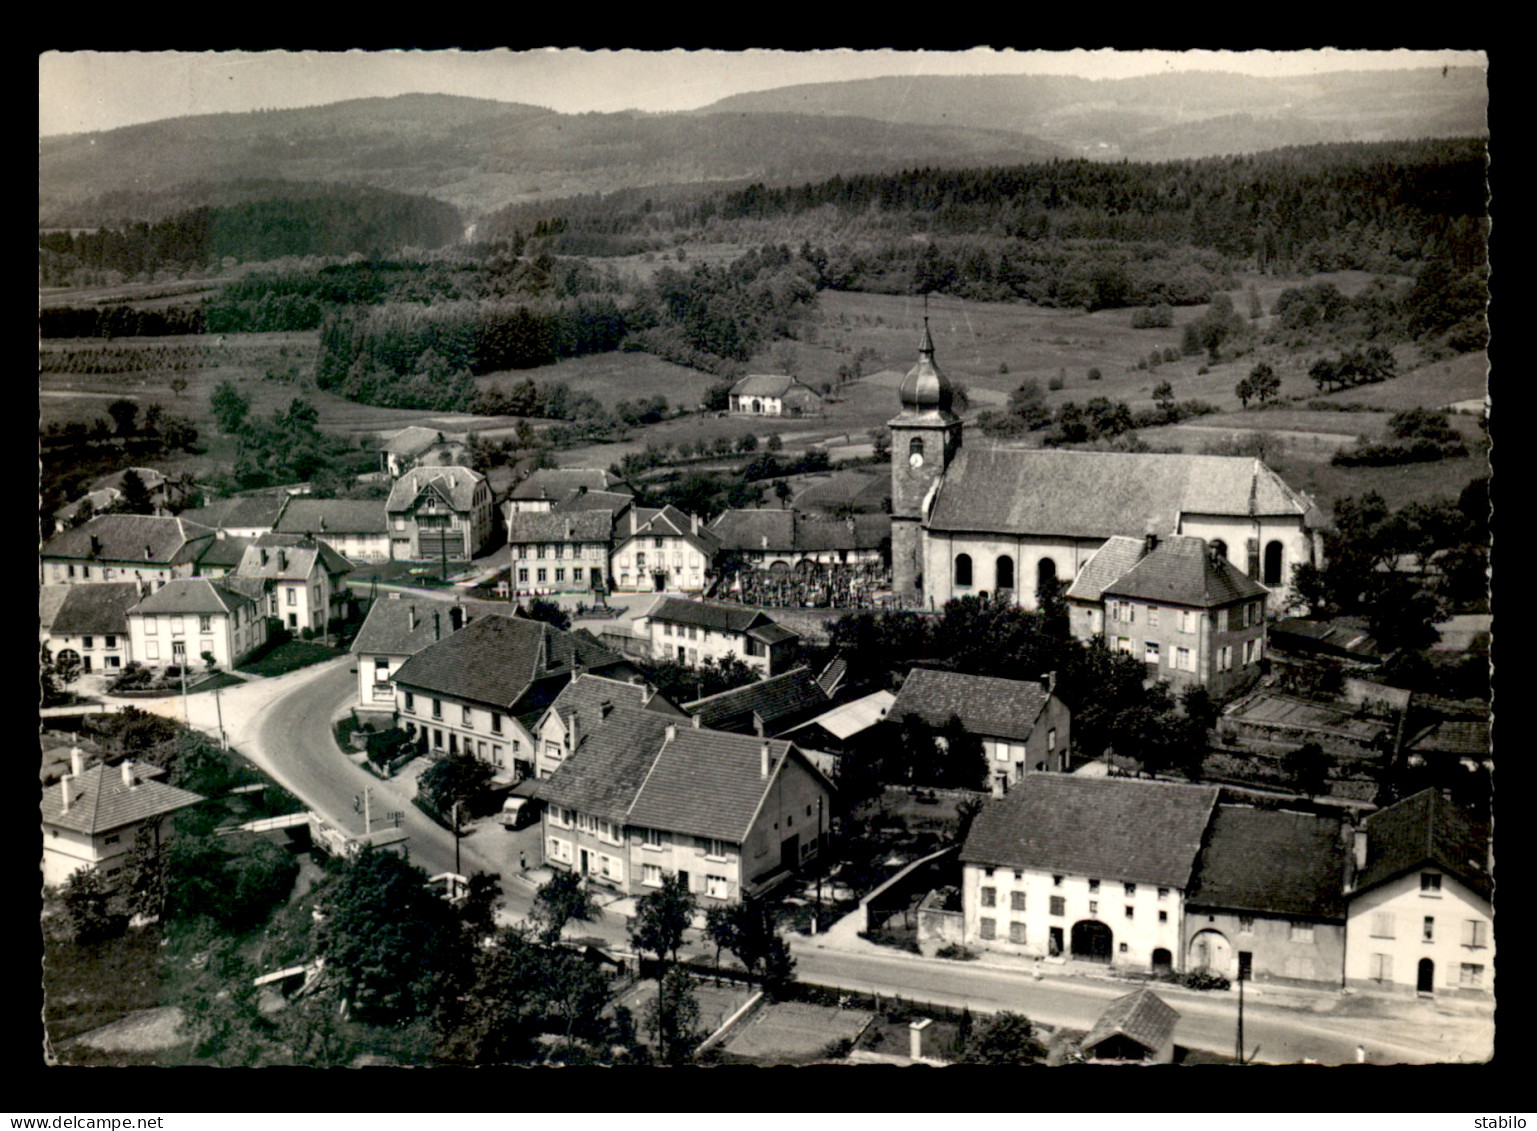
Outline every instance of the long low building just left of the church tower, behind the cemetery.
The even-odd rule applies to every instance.
[[[802,561],[824,566],[879,566],[890,547],[890,515],[813,518],[798,510],[725,510],[709,526],[724,553],[761,570],[785,570]]]

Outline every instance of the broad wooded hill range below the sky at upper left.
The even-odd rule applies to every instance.
[[[254,178],[349,181],[429,195],[473,218],[515,201],[646,184],[785,184],[1061,154],[1022,134],[987,128],[796,114],[556,114],[403,95],[43,138],[38,218],[45,227],[92,227],[124,218],[121,207],[135,194]]]

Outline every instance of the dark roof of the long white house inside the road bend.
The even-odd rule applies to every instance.
[[[487,613],[415,653],[395,672],[395,682],[510,710],[539,679],[569,676],[576,664],[603,670],[622,662],[590,638]]]

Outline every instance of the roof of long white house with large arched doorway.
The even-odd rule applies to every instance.
[[[961,861],[1185,890],[1219,794],[1214,785],[1030,771],[984,804]]]

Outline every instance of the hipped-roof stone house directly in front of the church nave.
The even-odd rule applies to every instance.
[[[1068,587],[1068,624],[1176,692],[1202,685],[1227,698],[1259,679],[1266,596],[1200,538],[1116,536]]]

